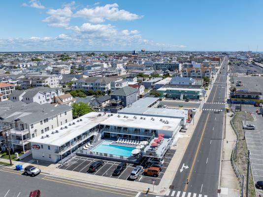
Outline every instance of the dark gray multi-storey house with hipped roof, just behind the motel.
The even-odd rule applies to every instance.
[[[139,99],[139,90],[130,86],[123,87],[114,91],[110,95],[110,104],[106,107],[107,111],[117,113],[122,108],[132,105],[133,102]]]

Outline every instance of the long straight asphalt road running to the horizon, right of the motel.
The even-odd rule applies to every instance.
[[[210,96],[202,108],[224,109],[228,59],[221,67]],[[225,67],[225,69],[223,69]],[[216,85],[218,84],[218,85]],[[218,104],[215,104],[218,102]],[[207,106],[206,106],[207,105]],[[217,197],[219,171],[221,163],[221,144],[223,138],[224,112],[203,110],[191,141],[177,171],[168,196],[180,194],[196,194]],[[186,168],[184,166],[188,166]],[[187,184],[188,180],[188,184]],[[175,193],[173,193],[175,191]]]

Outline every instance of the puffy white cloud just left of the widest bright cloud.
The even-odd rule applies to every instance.
[[[48,23],[48,26],[66,28],[70,22],[72,11],[70,7],[64,7],[62,9],[49,9],[47,11],[48,16],[43,22]]]

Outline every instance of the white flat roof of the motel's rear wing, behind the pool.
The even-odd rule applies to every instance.
[[[118,117],[118,115],[120,117]],[[125,118],[124,116],[128,116]],[[116,127],[128,127],[128,128],[141,128],[141,129],[151,129],[151,130],[163,130],[163,131],[175,131],[181,119],[179,118],[164,118],[164,117],[151,117],[151,116],[141,116],[135,115],[136,119],[133,118],[134,115],[131,114],[115,114],[110,118],[104,120],[101,124],[102,125],[109,125],[109,126],[116,126]],[[145,118],[144,119],[141,119]],[[151,120],[154,118],[154,120]],[[168,121],[168,124],[163,123],[160,121],[163,119]]]

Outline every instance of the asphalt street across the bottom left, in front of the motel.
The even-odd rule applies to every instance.
[[[29,197],[40,190],[41,197],[135,197],[138,192],[39,174],[35,177],[0,166],[0,197]]]

